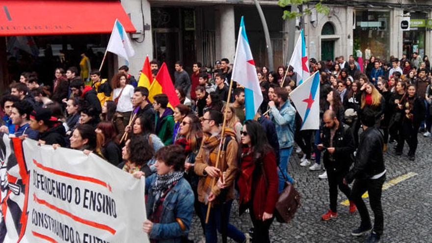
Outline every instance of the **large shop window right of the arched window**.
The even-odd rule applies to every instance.
[[[353,50],[388,59],[390,57],[390,12],[355,10]],[[368,50],[365,52],[365,50]]]

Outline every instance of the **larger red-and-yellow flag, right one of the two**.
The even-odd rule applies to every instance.
[[[157,94],[166,94],[168,96],[168,106],[175,108],[180,104],[179,97],[175,92],[174,85],[172,84],[171,77],[168,73],[168,68],[165,63],[162,63],[161,69],[159,69],[155,80],[152,82],[149,88],[149,100],[153,103],[153,96]]]

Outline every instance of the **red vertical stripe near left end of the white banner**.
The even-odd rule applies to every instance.
[[[24,205],[23,211],[21,213],[20,223],[21,223],[21,232],[17,242],[20,242],[24,237],[24,233],[26,233],[27,227],[27,202],[28,202],[28,171],[26,162],[24,159],[24,151],[23,151],[23,140],[18,137],[12,138],[12,143],[14,147],[15,157],[17,159],[18,166],[20,168],[20,176],[24,185],[25,196],[24,196]]]

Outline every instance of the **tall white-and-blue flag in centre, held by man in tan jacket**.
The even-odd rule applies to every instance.
[[[255,62],[250,51],[249,41],[246,36],[244,20],[240,22],[239,37],[237,39],[236,57],[234,59],[233,81],[244,87],[244,104],[246,109],[246,120],[253,119],[255,113],[263,102],[260,83],[256,73]]]

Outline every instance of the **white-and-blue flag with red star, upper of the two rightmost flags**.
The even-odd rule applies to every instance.
[[[309,78],[309,61],[306,54],[306,43],[304,41],[303,29],[300,31],[300,35],[298,36],[297,44],[294,48],[293,55],[291,56],[289,66],[294,68],[294,72],[297,75],[297,85]]]

